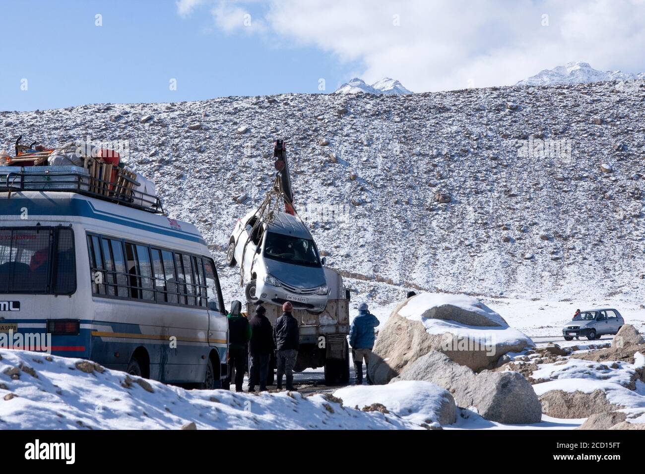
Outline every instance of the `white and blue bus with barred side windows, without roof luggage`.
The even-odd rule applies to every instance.
[[[43,333],[50,347],[24,348],[161,382],[221,386],[228,322],[215,263],[195,226],[159,208],[15,181],[0,184],[5,339]]]

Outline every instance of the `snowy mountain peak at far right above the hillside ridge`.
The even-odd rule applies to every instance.
[[[576,61],[566,63],[564,66],[557,66],[553,69],[545,69],[536,75],[519,81],[518,86],[550,86],[553,84],[581,84],[596,83],[602,81],[633,81],[644,79],[645,73],[633,74],[621,71],[599,71],[590,66],[589,63]]]

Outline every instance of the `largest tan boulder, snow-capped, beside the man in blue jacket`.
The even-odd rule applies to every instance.
[[[533,346],[529,337],[475,298],[421,293],[401,302],[379,331],[368,371],[373,382],[386,384],[432,350],[480,371],[494,368],[507,352]]]

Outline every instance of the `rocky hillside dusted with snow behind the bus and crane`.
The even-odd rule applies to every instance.
[[[226,301],[243,297],[223,265],[230,232],[272,183],[283,137],[295,202],[353,303],[392,308],[420,289],[638,308],[644,101],[632,81],[97,104],[0,112],[0,143],[129,140],[166,211],[211,244]]]

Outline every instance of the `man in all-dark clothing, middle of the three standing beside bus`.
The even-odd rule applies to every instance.
[[[266,313],[266,308],[258,305],[255,308],[255,316],[249,322],[251,326],[251,341],[249,343],[251,357],[248,369],[248,391],[255,391],[258,382],[260,391],[266,390],[269,360],[274,346],[273,328],[264,313]]]

